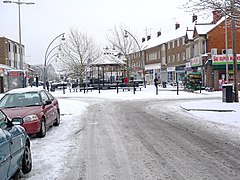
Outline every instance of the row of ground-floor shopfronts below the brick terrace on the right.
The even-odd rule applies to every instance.
[[[228,83],[234,83],[233,57],[228,56]],[[240,68],[240,55],[237,55],[237,64]],[[214,90],[221,90],[222,85],[226,83],[226,55],[215,55],[210,58],[195,57],[184,65],[161,66],[160,63],[145,66],[145,77],[147,84],[153,84],[156,76],[160,82],[168,84],[179,83],[184,85],[187,74],[200,74],[202,87],[208,87]],[[240,73],[237,72],[237,76]]]

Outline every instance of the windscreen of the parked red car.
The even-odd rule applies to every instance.
[[[0,101],[0,108],[14,108],[41,105],[37,92],[6,94]]]

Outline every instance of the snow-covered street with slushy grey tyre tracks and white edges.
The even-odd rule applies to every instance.
[[[20,179],[239,179],[239,104],[204,93],[53,92],[61,124],[32,137],[33,170]],[[181,107],[211,102],[235,111]]]

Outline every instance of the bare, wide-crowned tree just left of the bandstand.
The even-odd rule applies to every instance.
[[[99,57],[99,48],[93,39],[78,29],[71,29],[61,49],[60,69],[83,82],[89,64]]]

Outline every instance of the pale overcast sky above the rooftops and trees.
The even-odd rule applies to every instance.
[[[17,1],[17,0],[16,0]],[[23,2],[23,0],[21,0]],[[138,39],[174,30],[175,22],[191,25],[191,14],[177,8],[185,0],[24,0],[21,5],[22,43],[29,64],[43,64],[49,43],[71,27],[86,32],[102,47],[116,25],[126,27]],[[147,31],[146,31],[147,29]],[[17,4],[0,2],[0,37],[18,42]],[[55,42],[55,41],[54,41]],[[54,45],[54,44],[53,44]]]

